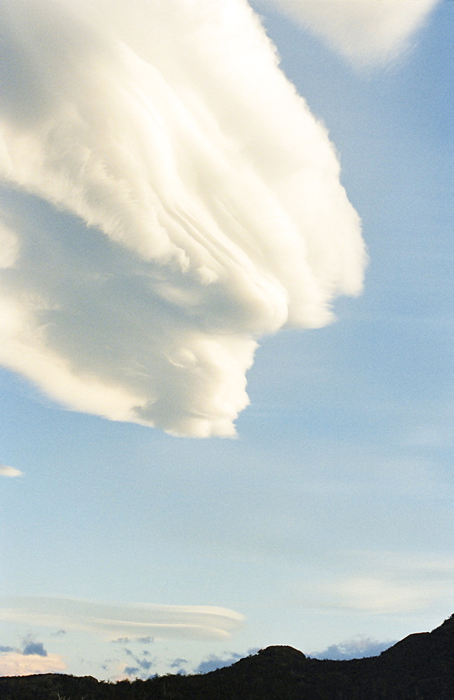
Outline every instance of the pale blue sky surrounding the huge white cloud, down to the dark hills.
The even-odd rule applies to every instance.
[[[364,290],[336,299],[324,328],[263,331],[233,438],[65,409],[31,370],[0,370],[0,462],[22,472],[0,471],[0,672],[34,661],[29,672],[146,677],[270,644],[375,652],[453,612],[453,3],[368,66],[272,3],[254,7],[335,144],[362,218]],[[27,210],[39,241],[43,221],[67,216],[62,239],[85,235],[74,207],[55,213],[18,182],[2,188],[8,221]],[[88,263],[67,260],[72,290]],[[224,313],[213,304],[208,315]],[[82,347],[78,328],[71,338]],[[178,406],[180,388],[165,386]],[[173,410],[161,424],[181,432]],[[149,627],[135,633],[141,614]]]

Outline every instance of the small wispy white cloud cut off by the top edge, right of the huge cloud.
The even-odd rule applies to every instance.
[[[265,0],[282,8],[354,64],[396,57],[437,0]]]

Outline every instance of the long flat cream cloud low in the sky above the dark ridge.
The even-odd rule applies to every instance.
[[[0,619],[64,626],[109,637],[224,639],[240,626],[235,610],[208,605],[104,605],[71,598],[8,598]]]

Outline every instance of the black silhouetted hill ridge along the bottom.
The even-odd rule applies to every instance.
[[[205,675],[0,678],[0,700],[454,700],[454,615],[369,659],[319,661],[267,647]]]

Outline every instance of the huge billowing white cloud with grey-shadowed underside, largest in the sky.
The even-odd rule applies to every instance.
[[[364,246],[245,0],[3,0],[0,361],[73,409],[231,435],[256,341]]]

